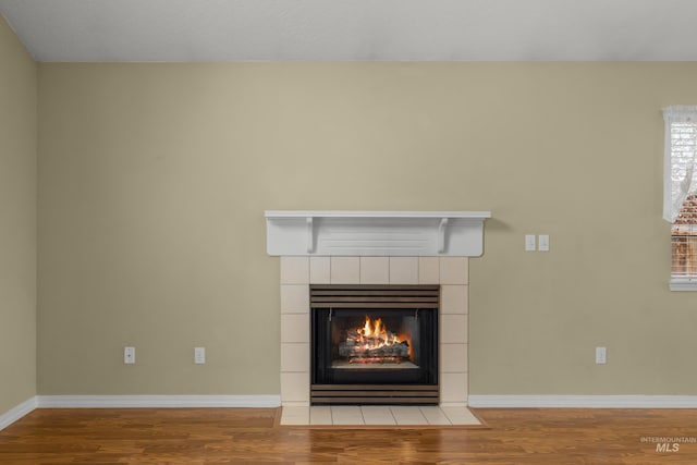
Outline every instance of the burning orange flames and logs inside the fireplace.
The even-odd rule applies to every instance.
[[[339,352],[352,364],[402,363],[412,356],[409,341],[389,331],[381,318],[366,316],[363,328],[346,331]]]

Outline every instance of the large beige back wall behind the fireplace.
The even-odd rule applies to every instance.
[[[697,394],[661,220],[661,108],[696,82],[697,63],[41,64],[39,393],[278,394],[264,210],[437,209],[493,212],[470,393]]]

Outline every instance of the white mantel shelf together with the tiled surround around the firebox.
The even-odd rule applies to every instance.
[[[310,405],[317,379],[310,363],[311,316],[315,308],[343,308],[313,303],[310,309],[309,289],[316,284],[439,287],[435,325],[440,406],[467,405],[468,264],[470,257],[484,253],[484,221],[491,212],[291,210],[266,211],[265,216],[267,253],[281,257],[281,405]],[[365,309],[360,310],[365,318]],[[418,315],[420,320],[421,310]],[[402,384],[403,390],[433,390],[428,383]],[[332,391],[342,388],[315,388],[319,386]],[[395,384],[363,386],[374,391],[381,386],[396,390]]]

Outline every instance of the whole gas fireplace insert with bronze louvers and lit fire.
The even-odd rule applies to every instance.
[[[438,285],[311,285],[310,403],[438,405]]]

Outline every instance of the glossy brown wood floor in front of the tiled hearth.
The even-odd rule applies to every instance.
[[[0,463],[697,464],[697,442],[643,442],[697,441],[696,409],[473,412],[489,428],[283,428],[274,408],[37,409],[0,431]]]

